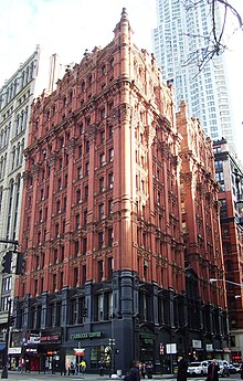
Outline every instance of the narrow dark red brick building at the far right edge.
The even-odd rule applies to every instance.
[[[221,232],[232,361],[241,362],[243,346],[243,168],[228,141],[213,142],[221,202]]]

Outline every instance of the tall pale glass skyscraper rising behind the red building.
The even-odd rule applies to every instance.
[[[229,85],[224,56],[204,61],[212,33],[211,9],[207,1],[193,8],[190,1],[157,0],[158,27],[154,30],[154,52],[163,80],[175,86],[177,108],[186,100],[190,116],[200,119],[213,140],[224,137],[234,148]],[[187,8],[186,8],[187,4]],[[216,10],[221,25],[220,10]]]

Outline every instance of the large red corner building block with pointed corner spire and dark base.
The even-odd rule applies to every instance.
[[[125,370],[133,358],[157,369],[167,343],[184,353],[184,327],[196,331],[172,89],[133,43],[125,9],[114,32],[32,106],[15,299],[32,363],[63,368],[81,347],[89,370],[101,360]]]

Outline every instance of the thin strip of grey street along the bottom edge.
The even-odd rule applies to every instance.
[[[18,380],[18,381],[40,381],[40,380],[49,380],[50,378],[54,379],[55,381],[63,381],[63,380],[68,380],[68,381],[80,381],[80,380],[86,380],[86,381],[107,381],[110,380],[107,374],[104,377],[101,377],[99,374],[89,374],[85,373],[84,375],[60,375],[60,373],[51,374],[51,373],[41,373],[39,374],[38,372],[31,372],[31,373],[20,373],[20,372],[13,372],[9,371],[8,373],[9,380]],[[155,380],[176,380],[176,377],[171,377],[168,374],[159,375],[155,374],[154,375]],[[123,380],[123,379],[118,379]],[[141,379],[142,380],[142,379]],[[148,380],[147,378],[145,380]],[[223,381],[223,378],[220,378],[220,381]],[[240,381],[241,377],[239,373],[236,374],[231,374],[230,377],[225,378],[225,381]],[[188,378],[188,381],[205,381],[205,377],[199,377],[199,378],[193,378],[190,377]]]

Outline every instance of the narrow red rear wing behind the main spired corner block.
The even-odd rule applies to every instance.
[[[181,140],[181,209],[186,244],[187,297],[192,327],[191,353],[204,358],[224,351],[229,356],[229,329],[222,255],[220,204],[212,140],[198,119],[190,118],[186,104],[177,114]],[[210,283],[210,279],[221,279]],[[204,334],[201,335],[201,327]],[[189,335],[190,336],[190,335]],[[194,340],[197,345],[193,346]],[[199,345],[200,343],[200,345]]]

